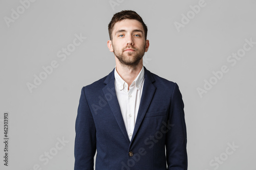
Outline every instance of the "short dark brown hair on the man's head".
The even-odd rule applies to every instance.
[[[123,10],[121,12],[115,13],[109,23],[109,35],[110,35],[110,40],[112,40],[112,32],[113,32],[113,28],[116,22],[123,20],[123,19],[135,19],[137,21],[139,21],[142,26],[143,26],[143,30],[144,30],[144,36],[145,36],[145,40],[146,40],[146,35],[147,35],[147,27],[143,21],[143,19],[139,16],[139,14],[137,14],[135,11],[132,10]]]

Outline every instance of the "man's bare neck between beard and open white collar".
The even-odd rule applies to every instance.
[[[128,88],[139,75],[142,67],[142,60],[139,62],[137,66],[127,66],[119,62],[116,62],[116,71],[119,74],[119,76],[128,84]]]

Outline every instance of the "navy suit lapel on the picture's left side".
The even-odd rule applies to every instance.
[[[127,135],[127,132],[126,132],[126,128],[125,128],[125,125],[124,125],[124,122],[123,122],[122,113],[121,113],[120,106],[119,106],[117,96],[116,96],[114,70],[115,70],[115,68],[106,77],[106,79],[104,81],[104,83],[106,85],[102,88],[102,90],[103,90],[103,93],[104,93],[105,96],[109,95],[109,94],[112,94],[112,99],[108,100],[109,106],[110,106],[110,108],[111,108],[111,110],[112,110],[112,112],[113,112],[113,114],[116,118],[116,122],[117,122],[120,130],[122,131],[123,136],[125,137],[127,142],[130,143],[130,139],[129,139],[129,137]]]

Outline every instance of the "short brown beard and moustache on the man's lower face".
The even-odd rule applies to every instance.
[[[112,44],[113,45],[113,44]],[[127,47],[121,49],[121,50],[116,50],[114,45],[113,45],[113,53],[117,57],[117,59],[120,61],[121,64],[127,65],[127,66],[137,66],[140,62],[140,60],[143,58],[145,54],[145,46],[142,49],[134,48],[131,45],[128,45]],[[125,52],[127,48],[131,48],[134,51],[133,52]]]

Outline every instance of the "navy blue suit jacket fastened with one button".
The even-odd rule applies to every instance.
[[[75,170],[93,169],[96,150],[97,170],[187,169],[184,104],[179,87],[144,70],[131,141],[116,97],[114,69],[82,88],[75,124]]]

